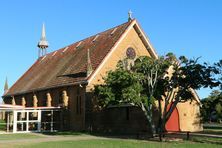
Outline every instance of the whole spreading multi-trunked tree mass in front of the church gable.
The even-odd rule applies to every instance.
[[[125,61],[127,59],[108,73],[105,84],[96,86],[98,102],[102,107],[122,103],[140,107],[155,133],[152,109],[157,101],[160,140],[165,124],[179,102],[192,99],[193,89],[220,84],[213,76],[219,73],[215,66],[198,64],[197,60],[184,56],[177,60],[172,53],[158,59],[139,57],[131,66]]]

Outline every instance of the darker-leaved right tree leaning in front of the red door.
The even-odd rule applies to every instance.
[[[173,54],[168,54],[166,60],[168,59],[175,60],[176,58]],[[169,69],[169,74],[164,78],[166,82],[158,86],[164,90],[162,98],[157,98],[161,100],[158,101],[159,110],[163,109],[159,121],[160,139],[162,132],[165,131],[166,122],[179,102],[191,100],[194,89],[220,85],[220,82],[214,77],[215,74],[219,74],[219,71],[206,63],[199,64],[198,59],[188,60],[181,56],[171,64],[171,70]]]

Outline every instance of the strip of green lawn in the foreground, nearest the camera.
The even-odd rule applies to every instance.
[[[43,142],[37,144],[29,144],[18,146],[23,148],[216,148],[221,145],[210,143],[196,143],[190,141],[184,142],[153,142],[140,140],[122,140],[122,139],[107,139],[107,140],[79,140],[79,141],[57,141],[57,142]]]

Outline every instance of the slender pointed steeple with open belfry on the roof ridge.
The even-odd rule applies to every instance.
[[[48,48],[48,41],[46,40],[46,33],[45,33],[45,24],[42,25],[42,36],[40,41],[38,42],[39,47],[39,57],[42,57],[46,54],[46,48]]]

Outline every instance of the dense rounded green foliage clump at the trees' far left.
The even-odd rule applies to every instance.
[[[108,105],[120,105],[133,103],[139,105],[145,102],[140,82],[140,75],[118,68],[110,71],[105,78],[105,84],[95,87],[95,94],[98,96],[99,104],[102,107]]]

